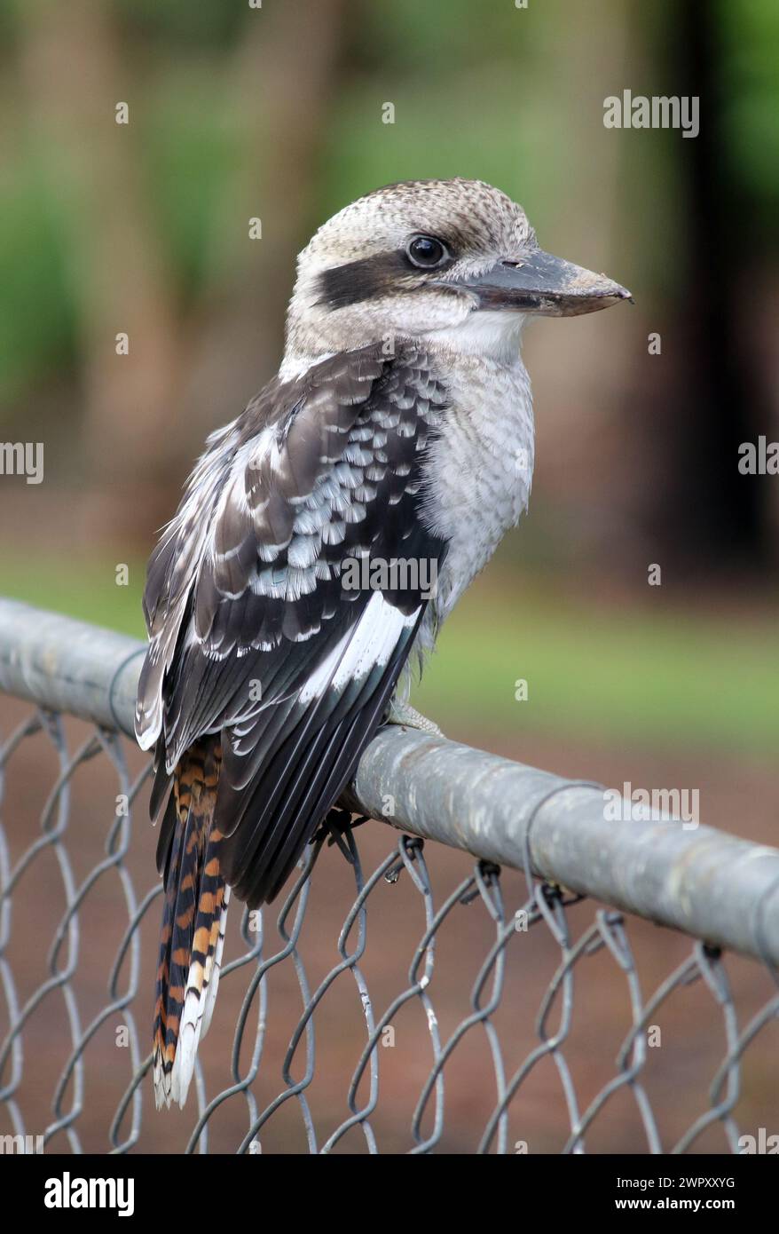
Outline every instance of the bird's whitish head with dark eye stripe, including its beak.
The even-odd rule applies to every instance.
[[[353,201],[300,254],[287,360],[394,337],[510,355],[528,313],[573,316],[629,297],[539,248],[499,189],[410,180]]]

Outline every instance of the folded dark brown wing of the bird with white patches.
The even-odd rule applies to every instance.
[[[443,560],[420,489],[445,406],[410,346],[271,383],[211,438],[149,564],[136,727],[157,747],[154,805],[192,743],[221,733],[214,826],[227,881],[249,903],[277,892],[410,650],[419,587],[350,591],[343,568]]]

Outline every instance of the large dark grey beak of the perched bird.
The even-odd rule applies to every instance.
[[[542,248],[525,249],[510,260],[496,262],[475,279],[449,286],[473,291],[479,308],[514,310],[545,317],[574,317],[608,308],[619,300],[631,300],[626,288],[604,274],[593,274]]]

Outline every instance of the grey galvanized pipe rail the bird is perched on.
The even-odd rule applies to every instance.
[[[132,734],[144,645],[0,600],[0,690]],[[365,752],[354,806],[394,827],[779,965],[779,850],[711,827],[613,822],[603,790],[415,731]]]

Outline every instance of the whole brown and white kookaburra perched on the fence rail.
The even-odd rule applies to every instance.
[[[230,892],[277,896],[380,726],[440,732],[408,681],[528,505],[526,318],[626,299],[465,178],[375,189],[300,253],[279,371],[207,438],[147,573],[158,1108],[186,1101]]]

